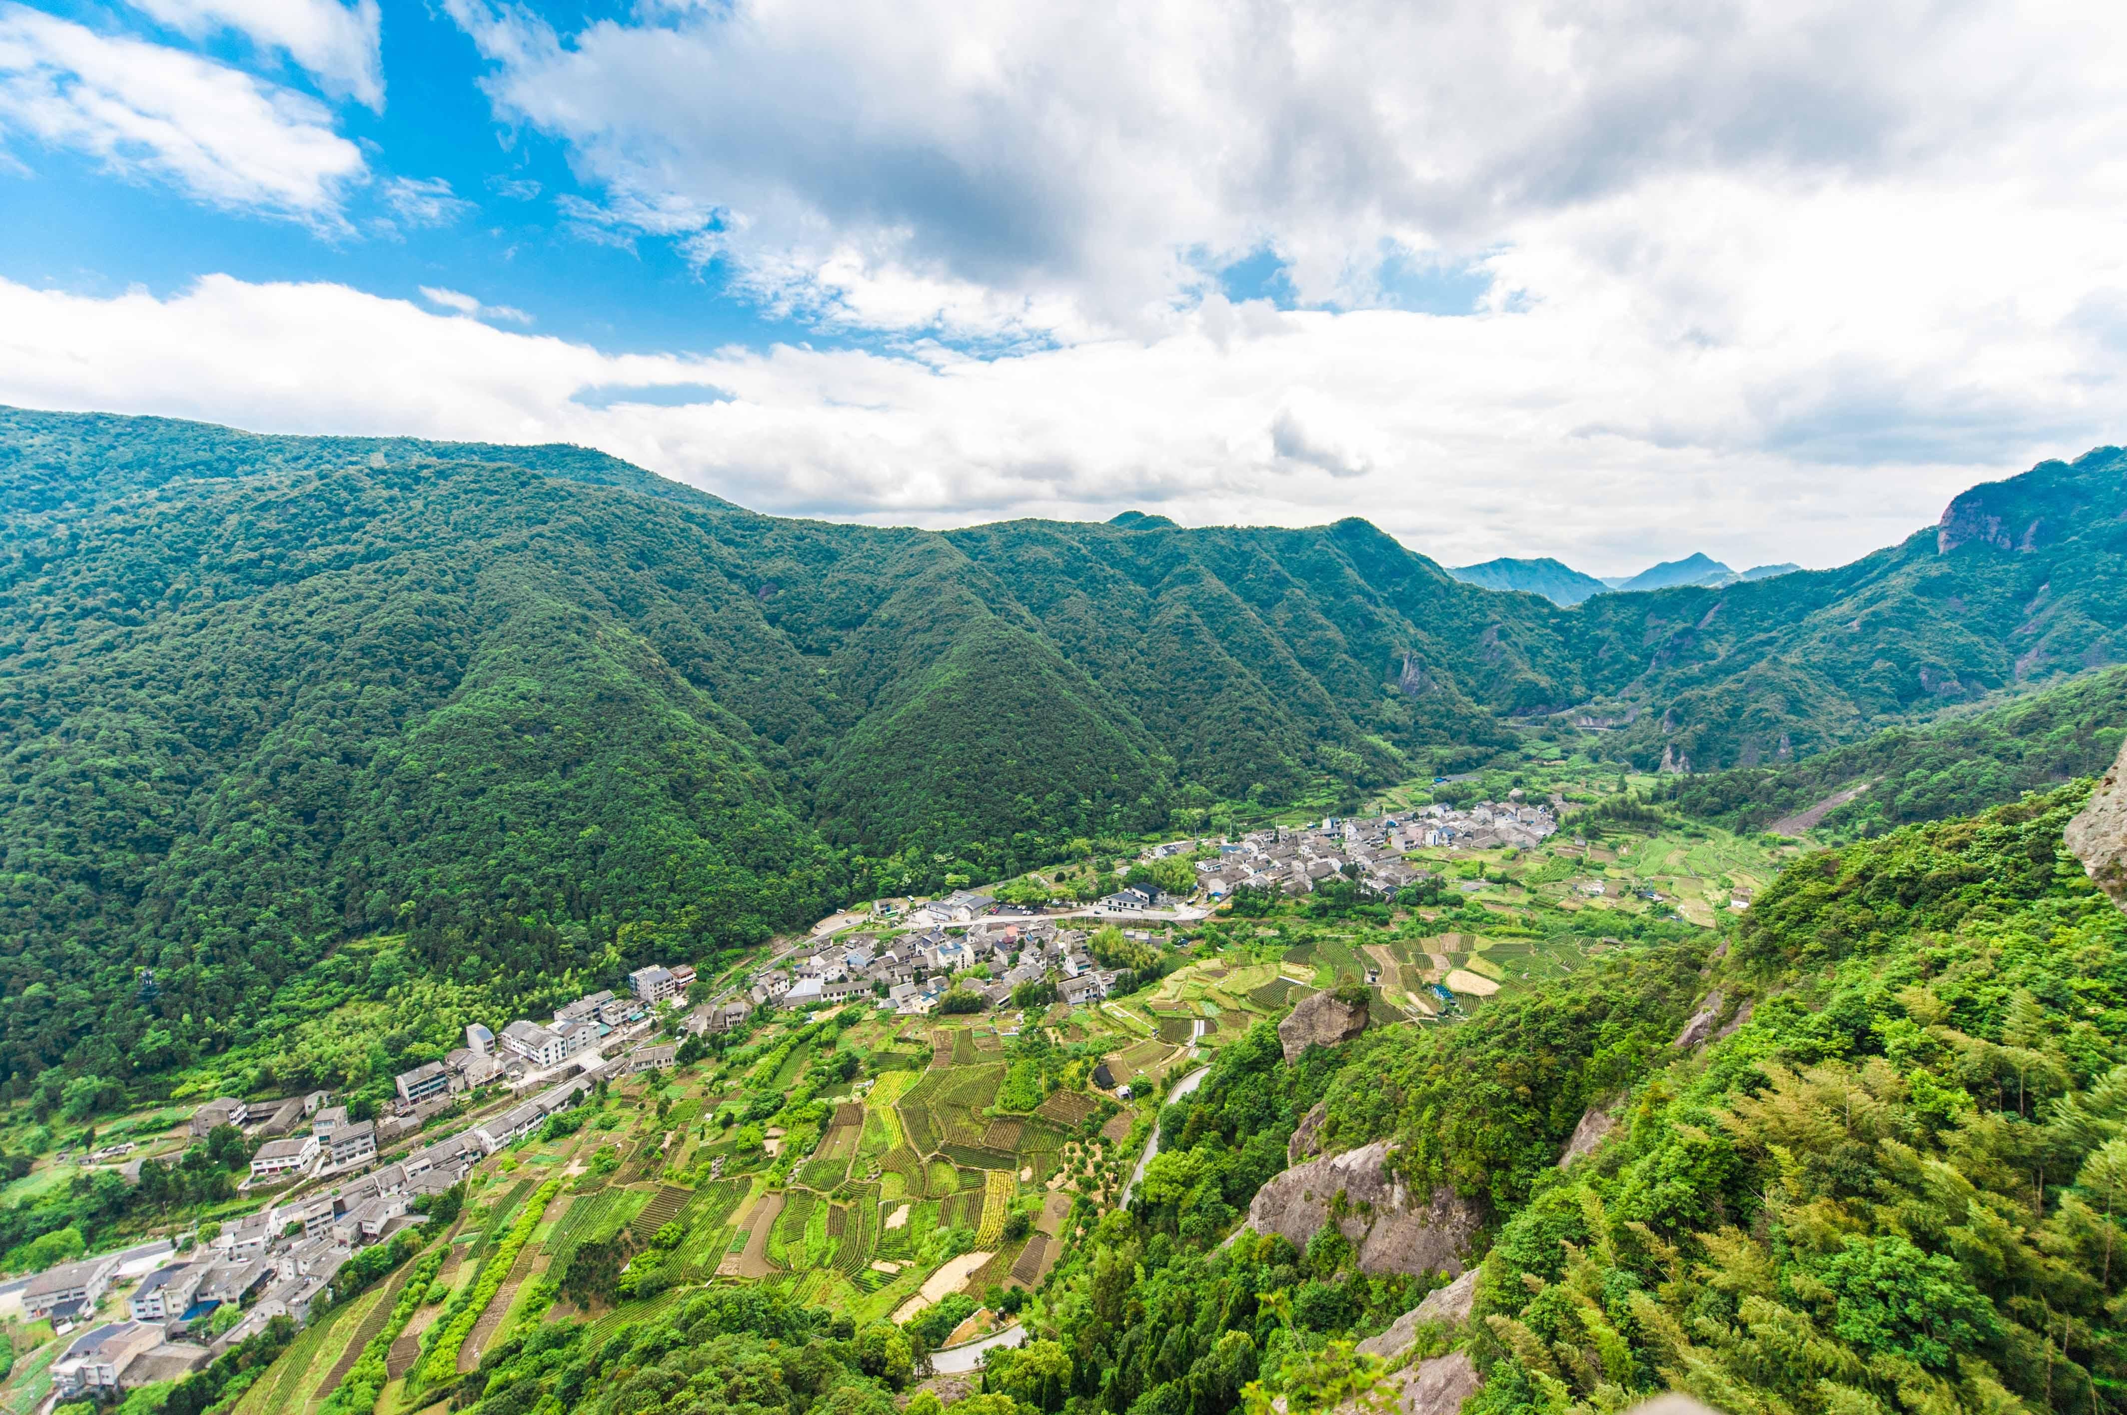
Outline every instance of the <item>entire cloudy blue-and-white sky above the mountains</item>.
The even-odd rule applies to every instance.
[[[2127,440],[2127,6],[0,0],[0,402],[1829,566]]]

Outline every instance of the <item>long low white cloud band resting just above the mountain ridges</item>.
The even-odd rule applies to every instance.
[[[1776,200],[1763,217],[1770,245],[1810,255]],[[1823,566],[1902,538],[1974,481],[2106,440],[2127,402],[2104,334],[2076,332],[2082,306],[2048,292],[2065,285],[2046,274],[2050,257],[2101,232],[2006,217],[1965,249],[2025,243],[2021,321],[1989,321],[1974,298],[1895,347],[1840,347],[1850,292],[1831,285],[1757,315],[1782,328],[1712,351],[1674,340],[1668,311],[1614,319],[1602,300],[1448,319],[1210,298],[1153,340],[987,360],[608,355],[468,319],[489,311],[462,292],[423,289],[449,311],[430,313],[342,285],[211,277],[172,298],[0,283],[0,402],[572,440],[764,511],[870,521],[1125,506],[1183,523],[1363,515],[1446,564],[1548,553],[1619,572],[1704,549]],[[1880,294],[1902,298],[1895,281]],[[1825,347],[1848,362],[1825,366]],[[1853,366],[1880,370],[1878,383],[1857,392],[1842,374]],[[1842,419],[1857,419],[1857,400],[1855,426],[1874,428],[1887,398],[1923,419],[1980,409],[1984,460],[1853,440]],[[1787,451],[1789,428],[1823,445]],[[1827,447],[1840,455],[1827,462]]]

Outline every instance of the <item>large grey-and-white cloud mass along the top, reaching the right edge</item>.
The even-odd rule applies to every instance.
[[[681,236],[825,323],[1059,338],[1157,336],[1266,247],[1302,302],[1393,304],[1385,253],[1453,270],[1693,179],[2065,187],[2118,151],[2127,62],[2127,9],[2070,0],[447,9],[498,113],[608,192],[587,230]],[[1659,247],[1572,255],[1721,304]]]

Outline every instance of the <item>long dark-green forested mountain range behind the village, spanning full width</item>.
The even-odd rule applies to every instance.
[[[1366,521],[764,517],[583,449],[0,413],[0,1066],[336,940],[493,981],[1483,755],[1697,768],[2121,657],[2116,449],[1853,566],[1563,611]],[[160,1062],[157,1062],[160,1064]]]

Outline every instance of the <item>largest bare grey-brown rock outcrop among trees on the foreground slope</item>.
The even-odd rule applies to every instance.
[[[1402,1179],[1389,1172],[1391,1145],[1374,1141],[1359,1149],[1310,1160],[1274,1177],[1249,1204],[1249,1228],[1283,1234],[1306,1247],[1332,1206],[1342,1211],[1338,1230],[1359,1251],[1361,1272],[1461,1275],[1480,1213],[1453,1189],[1436,1189],[1419,1202]],[[1338,1196],[1344,1202],[1338,1204]]]

